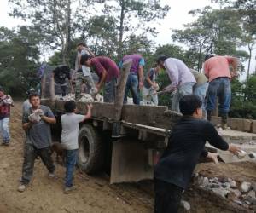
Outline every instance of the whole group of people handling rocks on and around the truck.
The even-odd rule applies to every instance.
[[[123,66],[126,60],[131,60],[132,64],[127,78],[124,102],[127,102],[128,94],[131,92],[133,103],[140,104],[139,90],[141,89],[143,91],[143,101],[148,101],[148,95],[151,95],[154,97],[154,104],[157,105],[157,96],[154,95],[159,89],[156,78],[160,69],[165,69],[172,81],[172,84],[163,90],[174,93],[173,110],[181,112],[183,118],[173,128],[165,153],[154,168],[155,212],[177,212],[183,190],[189,184],[198,159],[207,157],[216,161],[217,155],[205,150],[206,141],[209,141],[214,147],[229,150],[234,154],[240,152],[238,147],[226,143],[210,122],[201,119],[202,106],[207,93],[207,119],[211,120],[216,96],[219,96],[219,111],[223,124],[226,124],[231,96],[230,79],[236,76],[237,69],[235,58],[207,55],[204,64],[204,75],[189,70],[182,60],[161,56],[156,61],[156,66],[150,69],[144,78],[143,67],[145,61],[142,55],[125,55],[117,66],[108,57],[93,55],[84,43],[79,43],[78,52],[75,89],[73,89],[68,66],[59,66],[54,71],[53,78],[55,78],[55,83],[61,84],[63,96],[66,95],[66,78],[68,78],[72,90],[75,91],[76,100],[79,100],[81,86],[85,83],[91,95],[96,95],[104,88],[104,101],[113,102],[119,78],[119,68]],[[233,72],[230,72],[230,65]],[[90,68],[94,69],[99,78],[97,83],[93,81]],[[18,187],[20,192],[25,191],[31,181],[34,161],[38,156],[49,170],[49,177],[55,177],[55,164],[53,164],[50,149],[50,124],[55,124],[55,116],[49,107],[40,104],[40,96],[35,91],[29,93],[22,118],[22,127],[26,132],[26,142],[22,176]],[[10,141],[8,124],[11,106],[13,106],[11,97],[5,95],[3,88],[0,87],[0,128],[3,145],[9,145]],[[85,116],[75,113],[75,101],[66,101],[64,108],[67,114],[61,117],[61,142],[67,156],[64,192],[69,193],[73,190],[73,170],[79,148],[79,123],[90,118],[92,107],[87,107]]]

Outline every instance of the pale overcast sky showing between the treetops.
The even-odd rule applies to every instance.
[[[154,38],[154,40],[156,43],[160,44],[172,42],[172,29],[182,29],[183,24],[187,24],[195,20],[194,17],[188,14],[190,10],[201,9],[207,5],[218,9],[218,4],[211,3],[210,0],[162,0],[162,3],[168,4],[171,9],[164,20],[160,20],[157,24],[155,24],[159,34],[156,38]],[[11,28],[23,24],[21,20],[9,17],[8,12],[8,0],[0,0],[0,26]],[[255,52],[256,51],[253,52],[253,63],[251,65],[251,71],[255,70]]]

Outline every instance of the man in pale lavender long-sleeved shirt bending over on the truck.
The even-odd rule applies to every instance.
[[[157,64],[161,68],[166,69],[166,72],[172,82],[172,84],[163,89],[163,91],[170,91],[174,93],[172,99],[172,110],[179,112],[179,100],[184,95],[193,94],[193,86],[196,83],[195,77],[182,60],[160,56],[157,60]]]

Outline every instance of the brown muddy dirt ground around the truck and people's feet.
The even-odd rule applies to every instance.
[[[86,176],[76,171],[78,189],[63,193],[65,170],[57,165],[56,178],[49,179],[47,170],[36,160],[34,176],[26,192],[17,192],[23,161],[24,132],[21,129],[21,102],[12,108],[11,145],[0,147],[0,213],[5,212],[153,212],[152,183],[109,185],[108,176]],[[256,164],[203,164],[204,176],[229,176],[236,181],[256,181]],[[240,208],[199,188],[190,187],[185,199],[191,212],[253,212]]]

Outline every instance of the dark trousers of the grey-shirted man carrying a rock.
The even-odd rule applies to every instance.
[[[26,144],[24,148],[24,162],[22,166],[21,183],[28,184],[32,179],[35,159],[40,157],[50,173],[55,171],[55,165],[51,158],[50,147],[38,149],[32,144]]]

